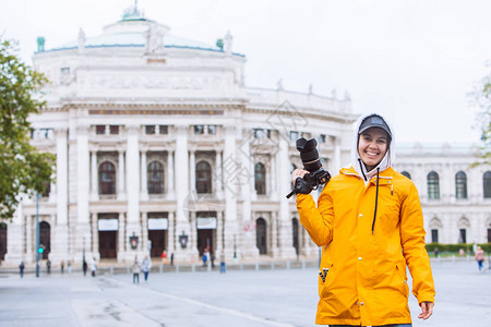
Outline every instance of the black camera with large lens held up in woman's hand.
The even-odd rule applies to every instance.
[[[316,146],[318,142],[315,138],[307,141],[301,137],[297,140],[297,149],[300,152],[303,169],[309,171],[309,173],[307,173],[303,179],[297,179],[295,187],[287,195],[287,198],[297,193],[309,194],[312,190],[316,190],[320,185],[323,185],[331,180],[330,172],[322,168]]]

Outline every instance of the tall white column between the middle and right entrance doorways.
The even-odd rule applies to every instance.
[[[176,261],[184,262],[191,259],[190,234],[191,227],[189,223],[188,195],[189,189],[189,155],[188,155],[188,129],[187,126],[176,128],[176,175],[179,177],[179,183],[176,183]],[[181,249],[179,237],[188,235],[188,245]]]

